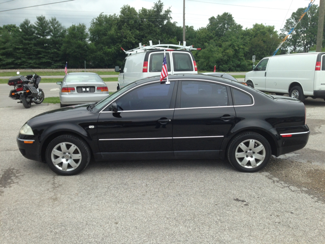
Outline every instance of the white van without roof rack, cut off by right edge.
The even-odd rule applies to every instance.
[[[257,90],[300,101],[308,96],[325,100],[325,52],[265,57],[253,68],[245,81]]]

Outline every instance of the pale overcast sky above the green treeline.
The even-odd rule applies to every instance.
[[[119,14],[123,5],[129,5],[136,10],[151,9],[157,0],[0,0],[0,25],[19,25],[25,18],[31,22],[36,16],[44,15],[46,18],[55,16],[64,26],[84,23],[90,26],[90,21],[100,13]],[[179,26],[183,25],[183,0],[163,0],[164,8],[171,8],[172,21]],[[44,5],[19,10],[11,10],[29,6]],[[185,24],[194,29],[206,27],[211,16],[224,12],[231,13],[238,24],[244,28],[251,28],[254,23],[274,25],[277,31],[283,27],[285,19],[297,11],[306,8],[310,0],[185,0]],[[319,0],[314,4],[319,5]],[[5,10],[11,10],[1,12]]]

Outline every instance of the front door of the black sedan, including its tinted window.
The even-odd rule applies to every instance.
[[[99,148],[104,159],[173,157],[175,81],[139,85],[99,115]]]

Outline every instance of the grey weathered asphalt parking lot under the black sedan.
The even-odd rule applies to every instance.
[[[107,82],[116,85],[115,82]],[[57,96],[44,83],[45,96]],[[307,146],[241,173],[221,160],[90,162],[58,176],[16,136],[59,104],[22,104],[0,85],[0,243],[325,243],[325,101],[308,98]]]

